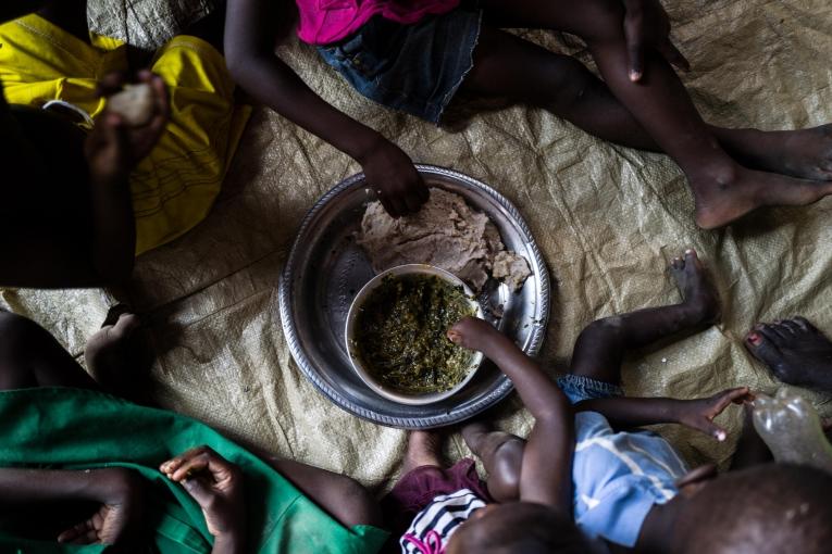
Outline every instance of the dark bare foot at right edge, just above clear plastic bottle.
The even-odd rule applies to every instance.
[[[745,345],[781,381],[832,392],[832,341],[803,317],[759,324]]]

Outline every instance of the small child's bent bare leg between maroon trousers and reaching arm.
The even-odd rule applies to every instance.
[[[483,461],[492,498],[498,503],[519,500],[525,441],[517,435],[495,431],[484,421],[465,425],[462,438],[471,452]]]

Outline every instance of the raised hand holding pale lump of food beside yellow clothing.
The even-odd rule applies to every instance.
[[[125,178],[156,147],[167,125],[170,101],[161,77],[141,71],[137,83],[127,85],[133,88],[125,91],[125,84],[121,73],[111,73],[99,84],[99,93],[110,100],[84,144],[94,179]]]

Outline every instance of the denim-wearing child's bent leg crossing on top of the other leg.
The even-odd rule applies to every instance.
[[[482,4],[488,18],[504,22],[502,26],[564,30],[587,42],[613,95],[685,172],[701,227],[725,225],[761,205],[807,204],[832,193],[832,182],[806,182],[737,164],[719,146],[660,56],[648,56],[645,77],[633,84],[628,75],[620,2],[591,0],[578,9],[566,0],[484,0]]]

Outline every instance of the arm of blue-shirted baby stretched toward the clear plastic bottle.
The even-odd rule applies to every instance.
[[[725,431],[713,423],[732,402],[742,404],[749,400],[747,387],[728,389],[717,394],[694,400],[668,398],[611,398],[584,400],[574,405],[576,412],[598,412],[613,427],[639,427],[656,424],[682,424],[725,440]]]

